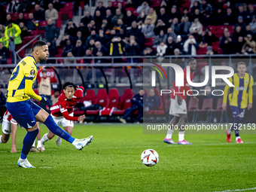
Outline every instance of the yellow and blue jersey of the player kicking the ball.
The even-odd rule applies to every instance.
[[[32,91],[38,70],[33,56],[26,56],[15,67],[8,84],[7,102],[22,102],[30,99],[41,100]]]

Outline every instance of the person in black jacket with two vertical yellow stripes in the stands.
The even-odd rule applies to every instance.
[[[111,41],[108,41],[106,47],[109,50],[110,56],[123,56],[123,41],[115,34],[114,30],[111,30]],[[114,62],[122,62],[122,59],[114,59]]]

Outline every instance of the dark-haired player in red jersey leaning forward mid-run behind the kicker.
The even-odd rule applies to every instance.
[[[78,102],[79,99],[84,94],[84,87],[75,87],[75,84],[72,84],[71,82],[66,82],[63,86],[63,92],[58,99],[58,102],[56,102],[51,108],[51,116],[53,117],[53,120],[56,124],[62,124],[64,130],[66,130],[69,135],[72,135],[73,127],[74,127],[74,120],[75,121],[81,121],[85,119],[84,115],[81,115],[79,117],[73,117],[74,107],[75,104]],[[44,134],[44,136],[41,139],[41,147],[43,150],[45,142],[47,142],[49,139],[53,139],[53,136],[55,136],[53,133],[49,132]],[[56,145],[61,145],[61,138],[59,136],[56,136]]]

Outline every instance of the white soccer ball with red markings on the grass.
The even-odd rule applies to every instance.
[[[145,166],[154,166],[157,164],[159,156],[157,151],[154,151],[153,149],[147,149],[142,152],[141,160]]]

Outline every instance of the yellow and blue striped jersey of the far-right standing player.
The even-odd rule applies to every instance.
[[[223,103],[227,103],[227,94],[230,100],[231,106],[236,106],[239,108],[247,108],[248,102],[252,103],[252,86],[254,85],[254,80],[251,75],[245,73],[245,76],[240,78],[237,74],[228,79],[235,87],[229,87],[226,85],[224,89]]]

